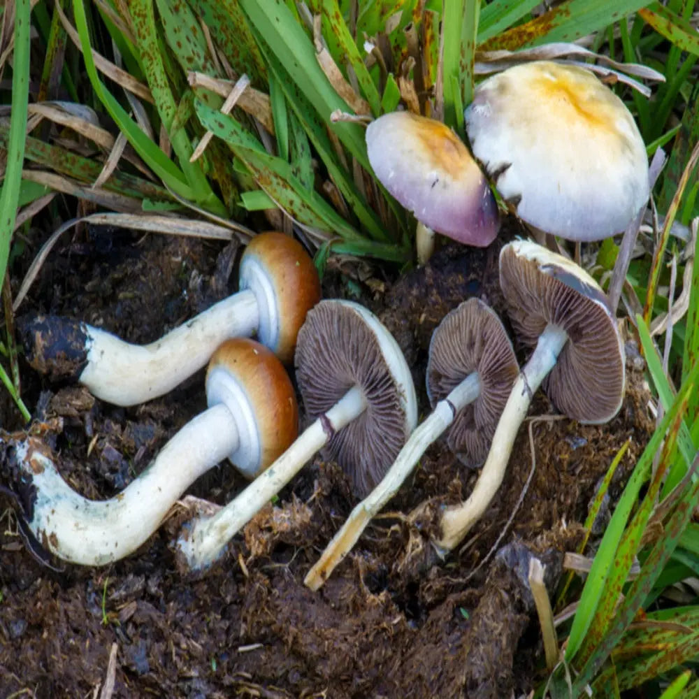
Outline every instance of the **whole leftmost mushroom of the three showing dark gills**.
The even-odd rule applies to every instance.
[[[298,333],[296,379],[314,421],[231,503],[185,526],[175,544],[185,568],[201,570],[215,561],[319,449],[338,461],[362,497],[417,422],[415,387],[398,343],[352,301],[321,301],[308,313]]]

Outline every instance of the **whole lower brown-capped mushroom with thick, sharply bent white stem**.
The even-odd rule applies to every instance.
[[[13,475],[31,533],[65,561],[113,563],[145,542],[189,485],[226,456],[254,477],[296,438],[294,387],[273,352],[254,340],[234,338],[217,349],[206,394],[208,410],[182,427],[110,500],[76,493],[43,440],[17,442]]]

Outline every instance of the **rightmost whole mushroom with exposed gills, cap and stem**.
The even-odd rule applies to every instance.
[[[500,487],[514,438],[542,382],[556,408],[586,424],[612,419],[624,398],[617,321],[586,271],[541,245],[514,240],[500,251],[500,287],[517,336],[535,349],[507,398],[473,492],[442,512],[436,543],[444,550],[461,541]]]

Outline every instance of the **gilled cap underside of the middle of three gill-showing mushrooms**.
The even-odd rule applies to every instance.
[[[519,366],[496,313],[477,298],[463,301],[442,319],[430,342],[427,396],[432,408],[468,375],[477,372],[480,394],[456,412],[449,449],[467,466],[478,466],[490,449],[500,413]]]

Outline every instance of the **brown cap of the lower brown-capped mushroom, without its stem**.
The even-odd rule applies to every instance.
[[[226,340],[206,373],[208,405],[224,403],[236,420],[236,468],[254,477],[276,461],[298,435],[298,405],[289,375],[275,354],[249,338]]]

